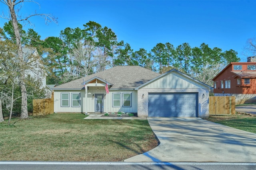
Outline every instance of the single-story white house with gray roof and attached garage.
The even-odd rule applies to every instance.
[[[115,66],[52,89],[55,113],[208,117],[210,88],[175,69],[158,74],[140,66]]]

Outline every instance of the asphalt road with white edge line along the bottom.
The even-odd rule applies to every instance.
[[[255,170],[256,163],[0,162],[0,170]]]

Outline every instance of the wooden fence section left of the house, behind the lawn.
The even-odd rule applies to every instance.
[[[49,115],[54,112],[54,96],[48,99],[33,99],[33,116]]]

